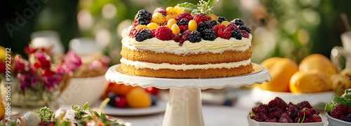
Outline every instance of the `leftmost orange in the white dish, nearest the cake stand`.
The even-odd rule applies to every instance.
[[[298,64],[289,58],[273,57],[266,59],[263,66],[266,66],[272,78],[270,82],[259,85],[263,90],[274,92],[289,92],[289,81],[293,73],[298,71]]]

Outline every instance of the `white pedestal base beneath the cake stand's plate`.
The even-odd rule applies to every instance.
[[[201,89],[171,88],[164,115],[163,126],[204,126]]]

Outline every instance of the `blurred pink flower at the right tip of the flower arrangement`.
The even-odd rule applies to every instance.
[[[74,51],[69,50],[64,57],[65,64],[69,71],[74,71],[74,69],[79,68],[81,66],[81,57],[79,57]]]

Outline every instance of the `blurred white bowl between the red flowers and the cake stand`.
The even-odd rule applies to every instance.
[[[108,83],[105,75],[88,78],[71,78],[58,98],[61,105],[93,105],[100,99]]]

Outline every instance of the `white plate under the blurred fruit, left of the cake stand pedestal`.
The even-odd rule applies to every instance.
[[[156,113],[163,113],[164,111],[166,111],[166,106],[167,106],[167,102],[164,100],[160,100],[154,106],[150,106],[147,108],[140,108],[140,109],[135,109],[135,108],[121,109],[121,108],[107,105],[104,111],[102,111],[102,113],[105,113],[110,116],[145,116],[145,115],[152,115]]]

